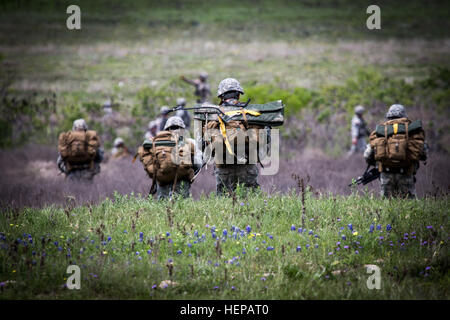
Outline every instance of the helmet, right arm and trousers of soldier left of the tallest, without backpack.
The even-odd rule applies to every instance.
[[[164,126],[164,130],[175,133],[178,136],[184,136],[185,129],[186,127],[184,125],[183,119],[177,116],[170,117],[167,120],[166,125]],[[187,138],[185,142],[192,143],[194,145],[195,152],[191,155],[191,163],[194,172],[196,173],[202,167],[202,152],[199,148],[197,148],[194,139]],[[179,194],[183,198],[188,198],[190,196],[190,188],[191,181],[186,179],[177,179],[175,187],[173,185],[173,182],[161,185],[157,181],[156,198],[157,200],[171,198],[173,194]]]

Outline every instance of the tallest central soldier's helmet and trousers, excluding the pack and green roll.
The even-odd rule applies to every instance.
[[[238,105],[241,94],[244,94],[244,89],[236,79],[227,78],[220,82],[217,97],[220,98],[221,106]],[[259,187],[258,174],[256,164],[237,163],[236,159],[233,164],[215,164],[216,192],[219,195],[234,192],[238,183],[256,189]]]

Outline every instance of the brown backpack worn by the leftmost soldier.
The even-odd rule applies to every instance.
[[[94,159],[100,147],[100,138],[94,130],[63,132],[58,138],[58,151],[70,171],[86,166],[94,169]]]

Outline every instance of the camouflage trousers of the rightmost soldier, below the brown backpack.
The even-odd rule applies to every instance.
[[[416,197],[415,177],[412,174],[382,172],[380,184],[383,197]]]

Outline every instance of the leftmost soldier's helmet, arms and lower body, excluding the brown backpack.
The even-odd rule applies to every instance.
[[[73,122],[72,125],[72,131],[87,131],[88,126],[86,124],[86,121],[84,119],[77,119]],[[97,150],[97,154],[95,155],[94,159],[94,170],[91,170],[89,168],[89,164],[86,164],[84,167],[79,167],[76,169],[73,169],[71,171],[67,170],[67,165],[63,158],[61,157],[61,154],[58,153],[58,159],[57,164],[58,168],[62,173],[66,174],[66,177],[72,181],[88,181],[92,182],[94,179],[94,176],[98,173],[100,173],[100,163],[103,161],[103,155],[104,151],[102,148],[99,148]]]

